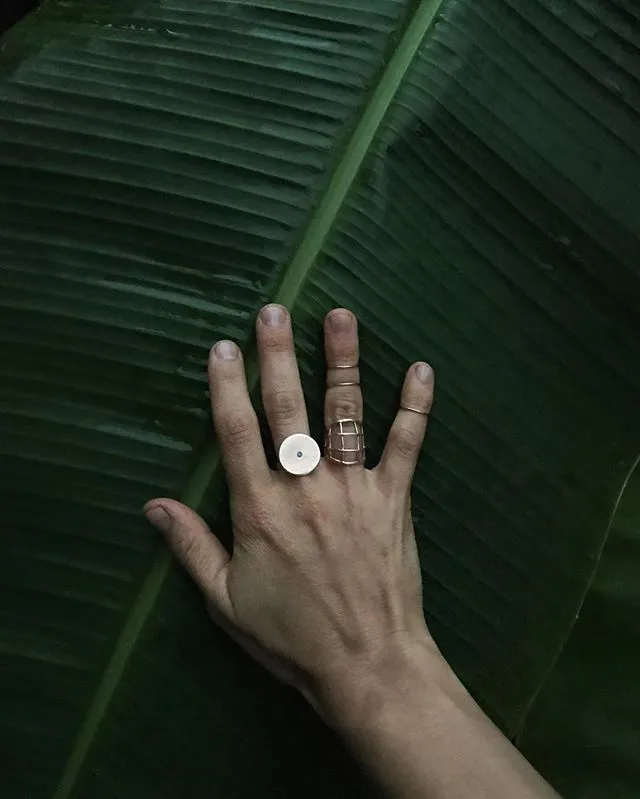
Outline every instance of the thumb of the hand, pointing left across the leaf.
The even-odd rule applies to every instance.
[[[144,512],[206,598],[230,618],[229,554],[204,520],[181,502],[164,497],[147,502]]]

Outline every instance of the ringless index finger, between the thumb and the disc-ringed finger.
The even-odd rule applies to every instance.
[[[231,488],[263,484],[270,469],[247,390],[242,353],[232,341],[219,341],[209,354],[209,388],[213,423]]]

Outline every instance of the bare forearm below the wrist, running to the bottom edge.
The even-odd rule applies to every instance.
[[[394,799],[557,799],[433,650],[358,686],[335,726]]]

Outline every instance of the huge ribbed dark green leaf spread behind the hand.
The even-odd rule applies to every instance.
[[[640,438],[627,0],[49,0],[2,47],[3,796],[347,795],[140,507],[227,529],[208,346],[361,317],[371,451],[436,367],[425,604],[514,729]],[[366,788],[362,788],[366,791]]]

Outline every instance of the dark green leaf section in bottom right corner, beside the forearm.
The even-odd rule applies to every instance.
[[[565,799],[636,799],[640,686],[640,468],[593,585],[521,736]]]

